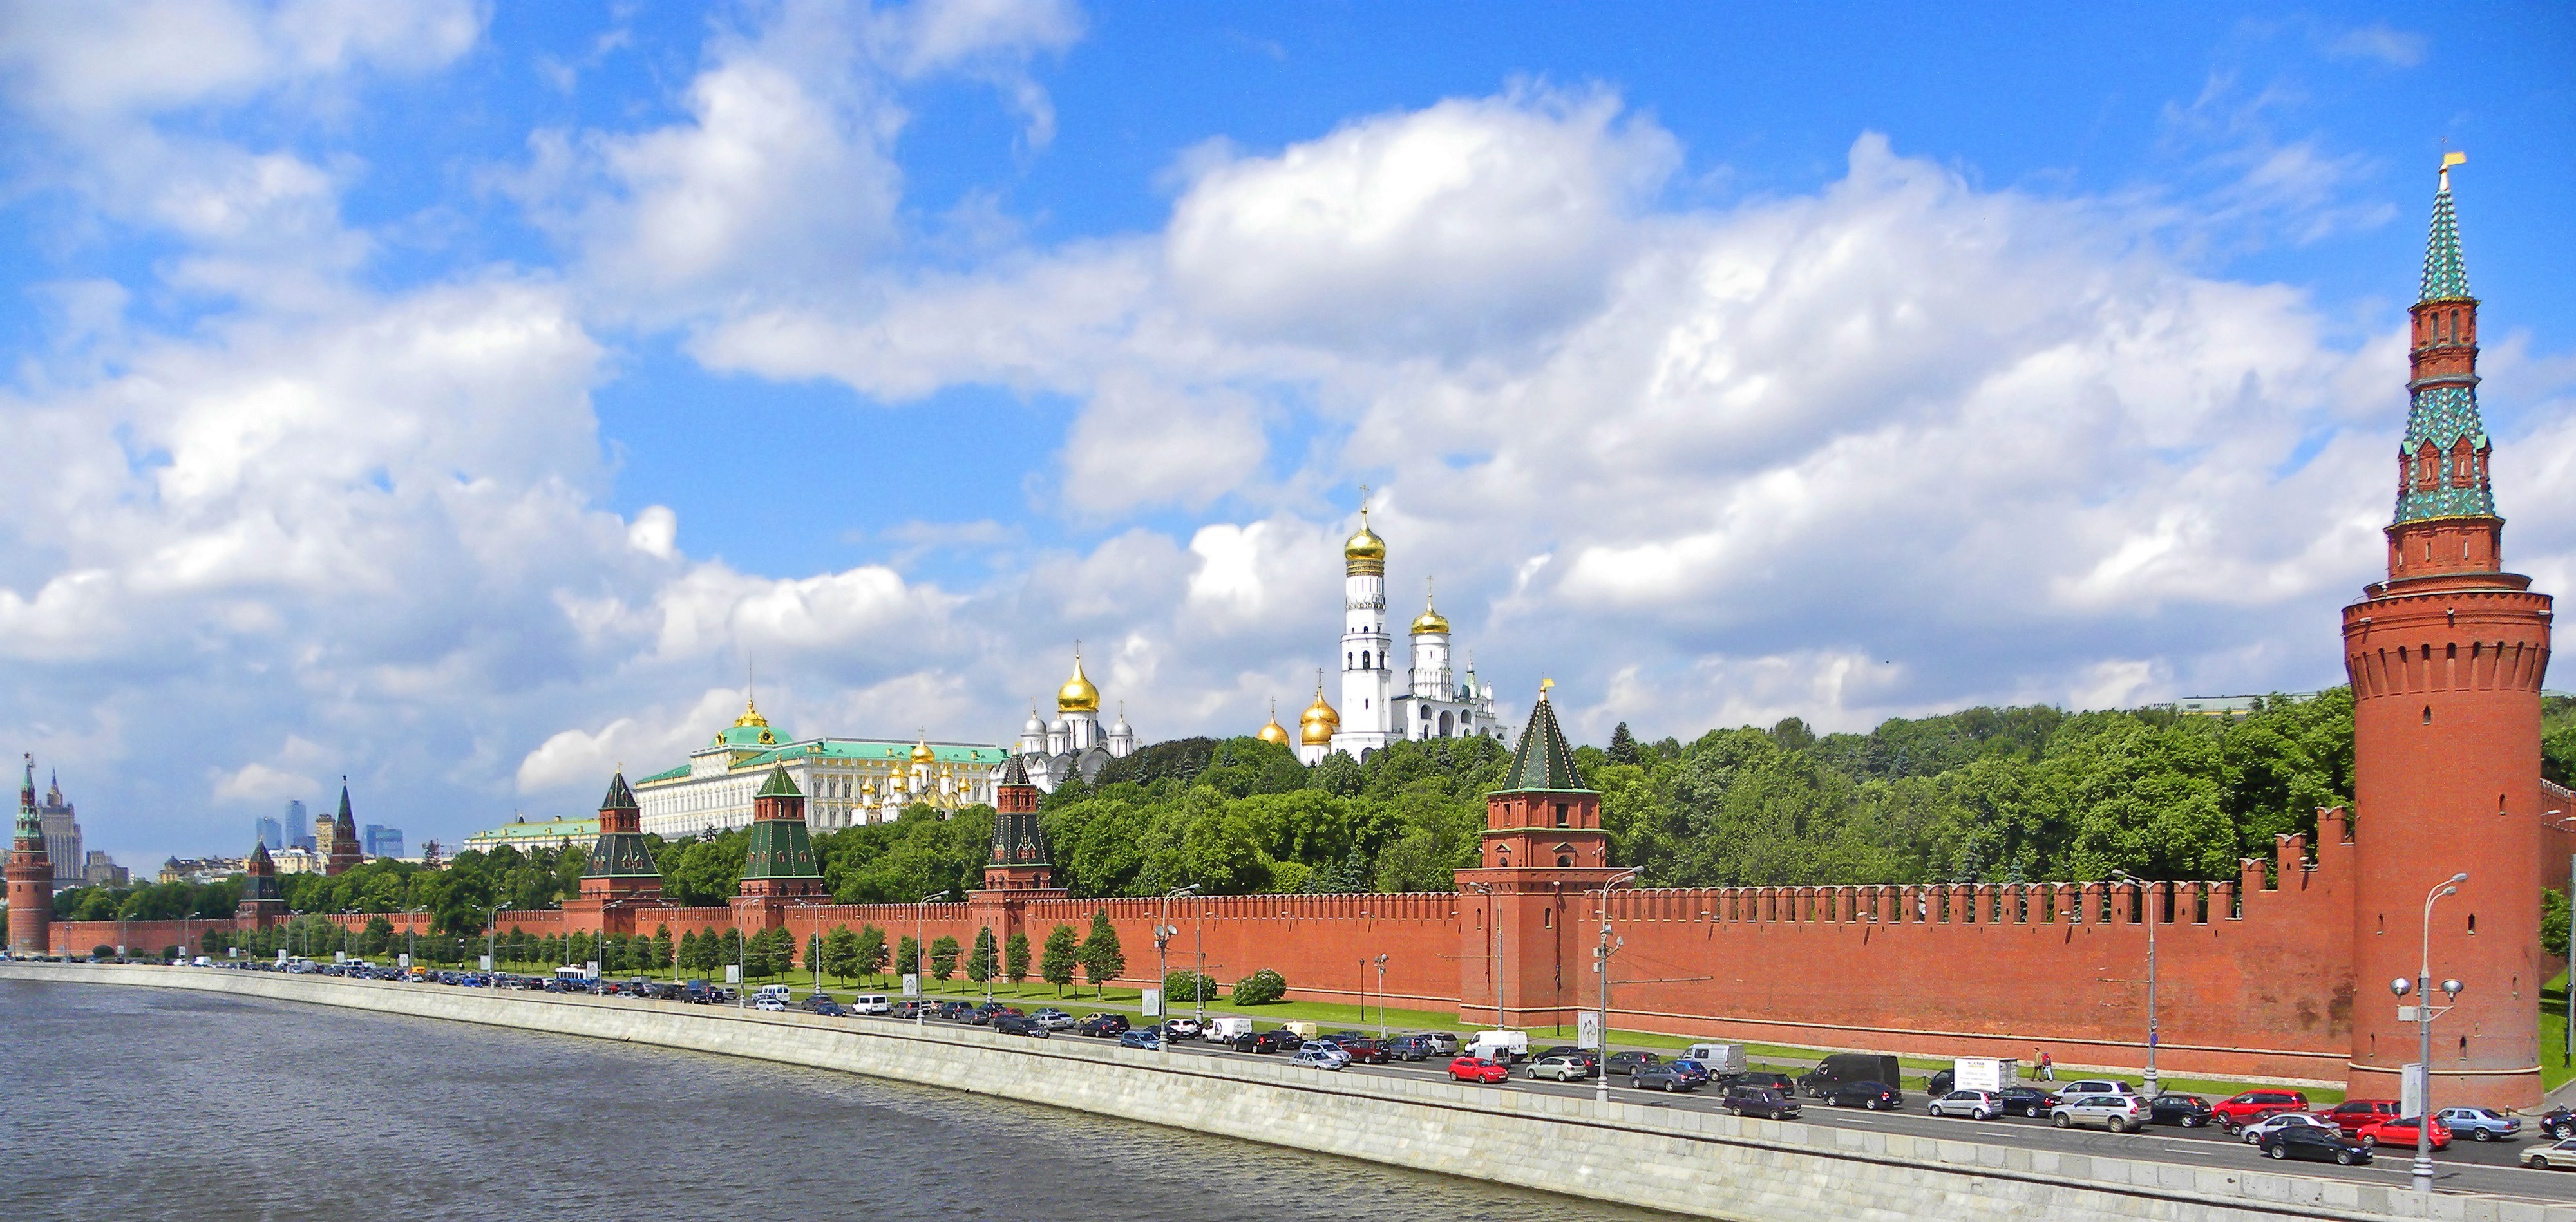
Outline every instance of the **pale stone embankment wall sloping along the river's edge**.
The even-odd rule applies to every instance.
[[[1777,1124],[1280,1062],[1164,1060],[974,1029],[268,972],[0,964],[0,980],[155,985],[721,1052],[1234,1134],[1723,1219],[2576,1222],[2576,1207]]]

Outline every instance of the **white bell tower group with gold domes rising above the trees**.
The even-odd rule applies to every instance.
[[[1430,598],[1406,637],[1412,665],[1399,686],[1396,639],[1386,632],[1386,539],[1368,529],[1363,505],[1360,534],[1342,544],[1342,706],[1324,699],[1319,670],[1314,704],[1298,717],[1298,761],[1324,763],[1334,750],[1365,758],[1396,740],[1504,740],[1494,686],[1476,681],[1473,660],[1463,678],[1450,670],[1450,624]],[[1262,737],[1285,742],[1288,730],[1273,714]]]

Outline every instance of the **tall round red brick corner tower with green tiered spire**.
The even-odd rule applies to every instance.
[[[2427,892],[2468,871],[2432,910],[2432,980],[2468,985],[2432,1029],[2434,1106],[2532,1106],[2550,977],[2537,822],[2550,598],[2501,572],[2504,518],[2478,423],[2478,299],[2460,263],[2450,165],[2414,304],[2388,580],[2344,608],[2357,822],[2352,1093],[2401,1093],[2416,1023],[2398,1021],[2388,982],[2416,977]]]

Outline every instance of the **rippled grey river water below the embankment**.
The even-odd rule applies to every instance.
[[[0,1016],[8,1222],[1667,1217],[428,1018],[21,980]]]

